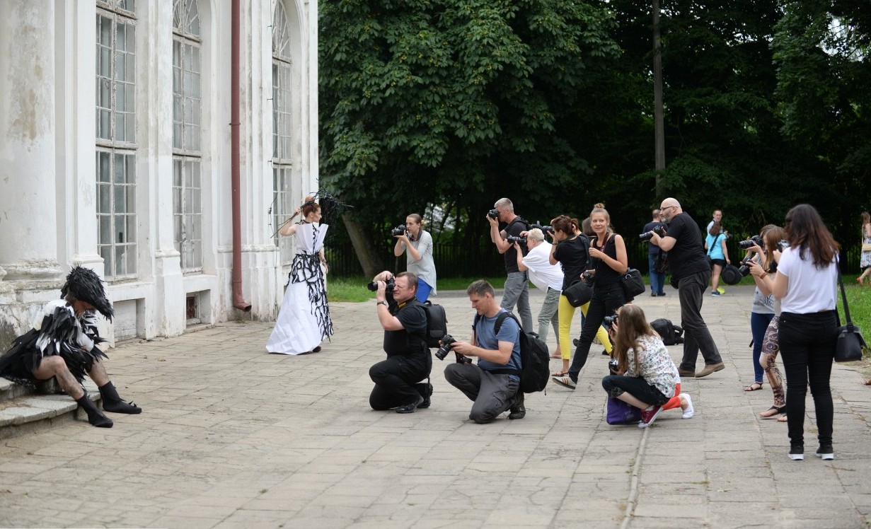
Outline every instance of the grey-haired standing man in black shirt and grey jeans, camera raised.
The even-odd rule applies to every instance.
[[[530,229],[530,225],[514,213],[514,204],[508,198],[496,200],[493,207],[498,213],[498,217],[487,216],[487,220],[490,222],[490,240],[496,244],[496,250],[505,256],[505,271],[508,272],[500,305],[506,311],[514,311],[514,305],[517,305],[520,324],[523,325],[523,329],[531,330],[532,309],[530,307],[529,278],[525,271],[520,271],[517,268],[517,250],[514,248],[514,244],[508,240],[509,235],[520,237],[523,231]],[[500,221],[508,224],[502,231],[499,231]],[[520,249],[524,256],[529,253],[525,242],[520,243]]]

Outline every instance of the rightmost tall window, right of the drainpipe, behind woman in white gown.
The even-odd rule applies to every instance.
[[[275,0],[273,8],[273,225],[275,230],[290,216],[290,175],[293,167],[291,154],[291,58],[290,29],[287,11],[281,0]],[[279,247],[282,263],[293,258],[289,240],[274,236]]]

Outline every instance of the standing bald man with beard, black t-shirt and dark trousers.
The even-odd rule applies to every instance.
[[[668,252],[669,269],[679,282],[680,325],[684,328],[685,341],[684,358],[680,361],[678,371],[681,377],[706,377],[726,366],[719,357],[717,345],[713,343],[711,331],[708,331],[701,314],[702,299],[711,278],[702,234],[692,217],[680,209],[677,199],[665,198],[659,211],[662,220],[668,224],[668,231],[665,237],[659,237],[653,231],[651,243]],[[705,368],[695,372],[699,350],[705,358]]]

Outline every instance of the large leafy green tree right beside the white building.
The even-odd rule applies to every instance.
[[[610,10],[571,0],[323,3],[321,168],[357,206],[349,232],[440,204],[468,219],[457,238],[481,238],[502,196],[549,215],[590,172],[561,115],[617,57],[613,27]],[[366,238],[354,244],[375,270]]]

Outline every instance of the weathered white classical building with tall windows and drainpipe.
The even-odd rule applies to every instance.
[[[317,77],[316,0],[0,1],[0,352],[76,264],[110,339],[274,318]]]

